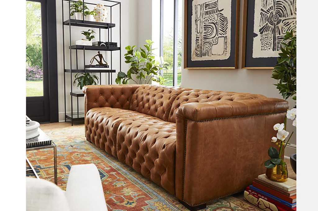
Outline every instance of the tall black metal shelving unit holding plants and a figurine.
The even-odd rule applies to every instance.
[[[82,0],[83,4],[85,3],[86,5],[90,4],[90,5],[96,5],[97,3],[90,3],[89,1],[85,1]],[[79,97],[83,97],[84,93],[81,92],[73,92],[73,73],[100,73],[100,77],[99,77],[99,81],[101,84],[101,73],[108,73],[108,84],[111,84],[113,81],[113,74],[115,73],[116,70],[112,69],[113,66],[113,52],[114,51],[119,51],[119,71],[121,71],[121,2],[117,2],[117,1],[111,1],[111,0],[99,0],[98,3],[103,4],[107,9],[109,9],[108,11],[110,11],[110,22],[112,22],[113,19],[113,13],[112,11],[119,11],[119,26],[116,26],[116,24],[114,23],[102,23],[102,22],[94,22],[94,21],[86,21],[84,20],[85,16],[84,16],[84,11],[83,11],[83,20],[76,20],[76,19],[71,19],[71,13],[70,13],[70,5],[72,2],[76,2],[76,1],[71,1],[71,0],[62,0],[62,21],[63,21],[63,65],[64,65],[64,110],[65,110],[65,122],[66,120],[71,120],[72,125],[73,122],[75,121],[82,121],[84,120],[84,113],[83,112],[79,112]],[[64,3],[68,3],[67,5],[67,9],[68,10],[68,19],[65,20],[64,19]],[[65,27],[68,26],[68,31],[69,31],[69,52],[70,52],[70,65],[69,68],[66,69],[65,67]],[[108,45],[106,46],[88,46],[88,45],[72,45],[72,27],[87,27],[87,28],[97,28],[99,29],[99,41],[101,38],[101,30],[107,30],[107,36],[105,38],[105,41],[103,42],[108,42]],[[119,43],[118,46],[119,47],[112,47],[109,46],[109,43],[112,42],[112,37],[113,37],[113,33],[112,33],[112,28],[114,27],[119,27]],[[118,36],[118,35],[117,35]],[[107,41],[106,41],[107,40]],[[76,51],[76,68],[72,67],[72,50]],[[83,66],[79,67],[79,63],[78,63],[78,50],[82,50],[83,51],[83,55],[84,55],[84,61],[83,61]],[[86,69],[85,68],[85,51],[87,50],[94,50],[94,51],[109,51],[110,52],[110,69]],[[71,78],[71,90],[70,90],[70,97],[71,97],[71,112],[66,112],[66,93],[68,93],[66,91],[66,79],[65,76],[66,74],[70,75]],[[77,98],[77,110],[74,111],[73,109],[73,97]]]

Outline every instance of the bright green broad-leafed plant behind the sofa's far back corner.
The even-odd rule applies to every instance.
[[[154,42],[146,40],[146,43],[147,44],[144,44],[146,49],[140,48],[140,51],[135,49],[135,45],[128,45],[125,48],[127,50],[125,63],[130,63],[130,67],[127,74],[118,72],[115,80],[117,84],[127,84],[129,80],[137,84],[149,83],[150,80],[163,84],[164,78],[160,70],[164,69],[164,61],[162,57],[160,58],[160,62],[155,59],[155,54],[152,53],[154,49],[151,49]],[[133,75],[135,75],[136,80],[133,78]]]

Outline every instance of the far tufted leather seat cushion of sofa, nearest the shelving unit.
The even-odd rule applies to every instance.
[[[119,124],[124,120],[156,118],[136,111],[110,107],[90,109],[85,117],[86,139],[108,154],[117,157],[116,136]]]

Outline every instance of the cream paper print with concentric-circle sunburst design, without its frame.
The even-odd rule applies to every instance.
[[[296,0],[255,0],[252,57],[278,57],[286,31],[295,27]]]

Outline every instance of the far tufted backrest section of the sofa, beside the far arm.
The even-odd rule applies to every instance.
[[[142,85],[131,97],[129,110],[168,121],[172,103],[183,91],[190,90],[160,85]]]

